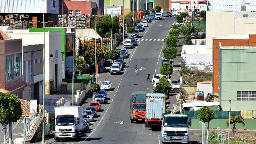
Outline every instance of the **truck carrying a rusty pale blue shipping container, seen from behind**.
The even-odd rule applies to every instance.
[[[162,93],[146,94],[146,127],[161,127],[161,121],[165,113],[165,95]]]

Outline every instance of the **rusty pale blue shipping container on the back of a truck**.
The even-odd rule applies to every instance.
[[[162,93],[147,93],[145,119],[161,120],[163,113],[165,113],[165,95]]]

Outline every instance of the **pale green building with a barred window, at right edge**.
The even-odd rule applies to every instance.
[[[219,46],[219,102],[222,110],[256,110],[256,47]]]

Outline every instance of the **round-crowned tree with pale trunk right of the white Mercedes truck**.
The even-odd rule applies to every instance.
[[[204,106],[198,110],[197,115],[201,122],[207,122],[206,143],[208,144],[209,125],[210,125],[210,121],[214,118],[214,111],[209,106]]]

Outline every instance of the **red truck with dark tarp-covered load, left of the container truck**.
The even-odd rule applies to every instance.
[[[145,96],[145,93],[132,93],[130,102],[131,122],[145,121]]]

